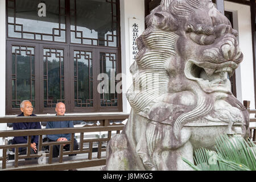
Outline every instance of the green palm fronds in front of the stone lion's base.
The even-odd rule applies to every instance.
[[[256,146],[240,135],[221,135],[216,139],[216,151],[205,148],[195,151],[195,164],[182,159],[196,171],[255,171]]]

